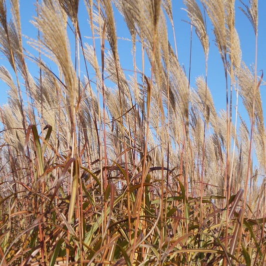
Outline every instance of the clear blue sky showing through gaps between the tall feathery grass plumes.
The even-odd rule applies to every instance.
[[[248,0],[244,0],[248,4]],[[22,34],[32,38],[37,38],[37,30],[29,22],[32,17],[36,15],[35,0],[20,0],[20,16]],[[188,16],[185,10],[183,0],[173,0],[173,16],[175,24],[175,34],[177,39],[178,58],[181,65],[184,65],[186,73],[189,72],[189,56],[190,56],[190,25],[184,20],[188,21]],[[246,17],[246,15],[239,9],[242,6],[239,0],[236,0],[236,28],[239,33],[242,58],[248,66],[255,63],[255,34],[253,27]],[[8,7],[8,6],[7,6]],[[115,18],[117,22],[117,35],[118,37],[130,38],[129,31],[126,24],[123,22],[123,18],[120,13],[115,9]],[[259,0],[259,42],[258,42],[258,71],[266,69],[266,0]],[[84,36],[90,36],[90,27],[88,24],[88,15],[84,7],[83,1],[80,1],[79,6],[79,23],[81,26],[81,33],[83,35],[83,42],[92,44],[92,40],[85,38]],[[210,53],[208,60],[208,86],[212,92],[214,103],[217,110],[226,107],[226,86],[225,75],[222,60],[215,45],[215,37],[212,33],[210,23],[208,23],[208,32],[210,40]],[[174,47],[172,27],[169,23],[169,40]],[[70,34],[70,38],[73,37]],[[73,38],[72,38],[73,39]],[[23,39],[23,45],[30,52],[34,53],[34,49],[26,44],[26,38]],[[71,43],[73,46],[73,43]],[[96,44],[97,45],[97,44]],[[98,45],[100,52],[100,45]],[[120,53],[120,59],[122,67],[125,69],[133,70],[133,61],[131,55],[132,45],[130,41],[118,39],[118,49]],[[35,52],[36,54],[36,52]],[[73,53],[74,54],[74,53]],[[139,53],[140,54],[140,53]],[[0,55],[0,65],[5,65],[8,70],[8,62],[2,55]],[[27,61],[28,69],[33,76],[38,75],[38,69],[33,62]],[[51,63],[52,66],[52,63]],[[81,69],[82,70],[82,69]],[[91,70],[92,71],[92,70]],[[10,70],[11,72],[11,70]],[[12,73],[11,73],[12,74]],[[82,74],[82,71],[81,71]],[[83,74],[85,74],[83,72]],[[90,73],[92,77],[93,73]],[[132,75],[132,72],[128,72]],[[205,58],[200,41],[198,40],[195,31],[193,30],[193,43],[192,43],[192,67],[191,67],[191,85],[194,85],[197,76],[205,74]],[[261,73],[258,72],[258,75]],[[8,87],[2,81],[0,81],[0,105],[7,101]],[[263,104],[266,102],[266,86],[261,87]],[[235,104],[235,98],[233,98],[233,105]],[[245,113],[243,106],[239,106],[241,114]]]

